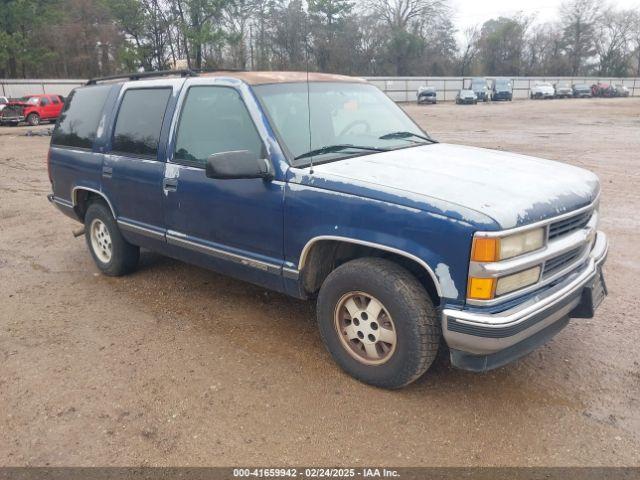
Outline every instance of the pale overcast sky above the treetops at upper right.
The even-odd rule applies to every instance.
[[[486,20],[500,15],[522,12],[527,16],[535,15],[540,23],[553,21],[558,17],[561,3],[559,0],[452,0],[458,41],[463,41],[462,32],[466,27],[482,25]],[[606,3],[618,8],[640,9],[640,0],[612,0]]]

